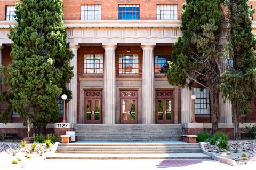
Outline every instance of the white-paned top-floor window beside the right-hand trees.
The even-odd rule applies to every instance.
[[[157,5],[157,20],[178,20],[177,5]]]

